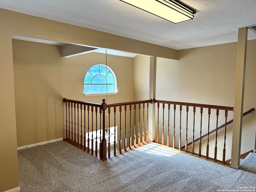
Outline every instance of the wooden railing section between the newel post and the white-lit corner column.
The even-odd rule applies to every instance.
[[[137,144],[140,146],[141,143],[148,142],[148,105],[151,102],[152,100],[144,100],[107,104],[107,126],[109,128],[114,126],[112,139],[114,155],[116,151],[122,153],[122,150],[127,151],[127,148],[132,149],[132,146],[136,147]],[[118,138],[116,132],[118,132]],[[108,158],[110,158],[110,132],[108,137]],[[117,142],[119,142],[118,145],[116,145]]]

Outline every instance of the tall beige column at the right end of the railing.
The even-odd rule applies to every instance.
[[[236,168],[236,169],[240,168],[247,32],[248,32],[248,29],[246,27],[238,29],[234,123],[233,123],[232,151],[231,151],[231,165],[230,165],[232,168]]]

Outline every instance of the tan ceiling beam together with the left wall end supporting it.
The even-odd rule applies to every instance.
[[[174,49],[90,30],[87,28],[55,22],[44,18],[20,14],[4,9],[0,9],[0,26],[0,89],[2,93],[0,111],[1,134],[2,137],[4,137],[0,141],[1,192],[18,187],[15,124],[16,117],[14,108],[15,99],[11,35],[28,36],[32,38],[70,42],[73,44],[111,48],[146,55],[156,55],[164,58],[177,59],[178,57],[178,51]],[[50,78],[54,79],[54,77]],[[59,96],[59,92],[55,92],[54,94]],[[51,98],[48,99],[50,99],[47,101],[48,104],[53,108],[52,105],[55,104],[55,101]],[[47,120],[45,121],[47,122]],[[55,134],[59,134],[59,132],[57,131]],[[6,144],[8,144],[8,148],[2,147]]]

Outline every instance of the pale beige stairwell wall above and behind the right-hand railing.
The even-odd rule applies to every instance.
[[[254,54],[255,48],[256,41],[248,41],[244,112],[250,108],[256,108],[256,78],[254,77],[254,72],[256,70],[256,55]],[[235,70],[236,43],[180,50],[179,60],[176,61],[158,58],[156,70],[156,99],[221,106],[234,106]],[[200,111],[200,109],[198,109],[198,111]],[[182,119],[186,120],[186,108],[183,108],[182,112]],[[179,113],[180,111],[178,106],[176,110],[176,139],[179,137]],[[202,134],[206,134],[208,127],[208,112],[204,111],[203,113],[205,114],[204,118],[206,118],[206,125],[203,126]],[[215,114],[212,114],[212,116],[216,116],[216,111],[214,113]],[[228,112],[228,114],[230,116],[229,119],[232,119],[233,112]],[[192,114],[190,117],[191,116]],[[171,116],[171,120],[172,117],[173,116]],[[160,117],[160,120],[161,119],[162,118]],[[188,136],[189,142],[192,141],[192,122],[192,119],[190,119],[190,135]],[[196,124],[197,130],[195,130],[195,139],[200,135],[200,131],[198,130],[198,128],[200,128],[200,114]],[[216,119],[213,120],[211,124],[213,126],[210,130],[216,128]],[[218,126],[222,124],[224,124],[223,114],[219,116]],[[241,153],[247,152],[248,150],[252,150],[254,148],[256,130],[255,124],[255,116],[249,116],[243,122]],[[182,146],[184,146],[186,134],[185,125],[186,122],[182,121]],[[160,134],[162,134],[162,129]],[[170,138],[172,138],[172,135]],[[223,131],[219,132],[218,138],[224,138]],[[207,142],[206,138],[204,139],[204,142]],[[226,142],[226,148],[228,151],[231,149],[232,126],[228,128]],[[170,143],[172,143],[172,140]],[[212,136],[212,142],[210,145],[213,147],[215,146],[215,136]],[[219,139],[218,150],[220,150],[218,151],[218,157],[222,158],[223,141]],[[196,151],[196,153],[198,153],[198,148]],[[231,153],[227,153],[227,158],[230,158]]]

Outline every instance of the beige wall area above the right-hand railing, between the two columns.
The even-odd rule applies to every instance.
[[[156,98],[233,106],[235,64],[236,43],[180,50],[177,61],[158,58]]]

